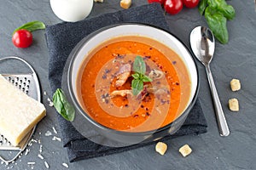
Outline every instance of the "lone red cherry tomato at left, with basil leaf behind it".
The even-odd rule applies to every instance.
[[[12,41],[17,48],[27,48],[32,44],[32,33],[25,29],[15,31]]]

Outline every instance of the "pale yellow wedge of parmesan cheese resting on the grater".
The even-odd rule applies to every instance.
[[[0,75],[0,133],[11,144],[17,146],[45,115],[43,104]]]

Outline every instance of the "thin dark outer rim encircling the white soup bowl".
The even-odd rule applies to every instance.
[[[168,123],[166,126],[164,127],[160,127],[154,130],[149,130],[149,131],[143,131],[143,132],[127,132],[127,131],[120,131],[120,130],[116,130],[110,127],[106,127],[102,124],[100,124],[99,122],[96,122],[93,118],[91,118],[84,110],[83,108],[79,105],[79,101],[78,99],[76,99],[73,88],[72,88],[72,77],[71,77],[71,71],[73,70],[73,61],[75,59],[75,56],[79,53],[80,49],[84,46],[85,42],[90,41],[90,39],[92,37],[95,37],[98,33],[102,32],[102,31],[106,31],[108,29],[114,28],[114,27],[118,27],[118,26],[149,26],[149,27],[153,27],[154,29],[160,30],[160,31],[164,31],[167,34],[170,34],[172,37],[176,38],[178,42],[180,42],[183,47],[187,50],[187,52],[190,54],[191,59],[194,62],[195,65],[195,71],[197,73],[197,86],[195,88],[195,94],[192,97],[189,105],[187,105],[187,107],[185,108],[185,110],[183,111],[183,113],[180,114],[180,116],[178,116],[174,121]],[[196,65],[195,62],[195,56],[194,54],[191,52],[191,50],[186,46],[186,44],[184,44],[177,36],[173,35],[170,31],[166,31],[163,28],[160,28],[159,26],[153,26],[150,24],[144,24],[144,23],[137,23],[137,22],[125,22],[125,23],[120,23],[120,24],[113,24],[113,25],[109,25],[109,26],[104,26],[102,28],[97,29],[96,31],[92,31],[90,32],[89,35],[87,35],[86,37],[82,38],[80,40],[80,42],[73,48],[72,52],[69,54],[69,57],[71,57],[70,63],[68,64],[68,70],[67,70],[67,89],[68,89],[68,93],[70,94],[70,98],[73,100],[73,105],[75,105],[75,108],[77,110],[79,110],[79,114],[81,114],[82,116],[84,116],[87,121],[89,121],[91,124],[93,124],[94,126],[104,130],[104,131],[109,131],[112,133],[118,133],[118,134],[129,134],[131,136],[142,136],[142,135],[151,135],[153,133],[157,133],[157,132],[161,132],[163,130],[169,129],[173,126],[173,124],[175,122],[179,122],[181,120],[183,120],[183,118],[186,118],[186,116],[189,115],[189,111],[191,111],[191,109],[193,108],[193,106],[195,105],[195,101],[198,97],[199,94],[199,88],[200,88],[200,77],[199,77],[199,71],[198,71],[198,66]]]

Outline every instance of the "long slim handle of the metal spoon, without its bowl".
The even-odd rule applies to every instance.
[[[213,81],[212,71],[210,70],[209,65],[205,65],[205,66],[206,66],[206,70],[207,70],[208,82],[210,84],[210,88],[212,91],[212,99],[213,99],[213,104],[214,104],[215,113],[216,113],[216,117],[217,117],[219,133],[220,133],[220,136],[228,136],[230,134],[230,129],[226,122],[220,101],[218,99],[218,93],[217,93],[217,89],[216,89],[214,81]]]

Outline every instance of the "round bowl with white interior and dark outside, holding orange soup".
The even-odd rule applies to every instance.
[[[165,127],[136,133],[118,131],[109,127],[105,127],[102,124],[96,122],[86,113],[86,111],[84,111],[82,107],[81,101],[79,99],[80,92],[76,84],[79,81],[78,75],[81,63],[84,61],[87,55],[90,54],[91,50],[96,48],[102,42],[106,42],[113,37],[122,36],[149,37],[165,44],[168,48],[171,48],[180,56],[184,65],[186,65],[186,68],[189,71],[191,84],[189,86],[190,94],[186,96],[186,98],[189,98],[188,103],[185,106],[185,109],[183,109],[181,114],[176,118],[176,120],[167,124]],[[73,123],[75,124],[75,127],[81,127],[79,132],[81,129],[83,131],[82,126],[90,125],[91,129],[95,130],[106,139],[117,141],[121,144],[137,144],[145,141],[152,141],[155,139],[160,139],[168,134],[177,132],[177,130],[182,126],[183,122],[188,116],[189,111],[195,104],[195,99],[197,98],[199,88],[199,77],[197,67],[195,65],[195,60],[190,54],[188,48],[186,48],[183,45],[183,42],[180,42],[177,37],[154,26],[142,24],[122,24],[104,27],[91,33],[88,37],[84,37],[84,39],[79,42],[79,44],[73,49],[72,54],[70,54],[70,58],[71,61],[67,71],[67,88],[68,93],[73,101],[73,105],[75,105],[77,111],[77,119],[79,120],[75,120]],[[84,129],[84,131],[86,130]],[[86,135],[87,134],[85,132],[85,136]],[[102,144],[101,141],[94,142]]]

